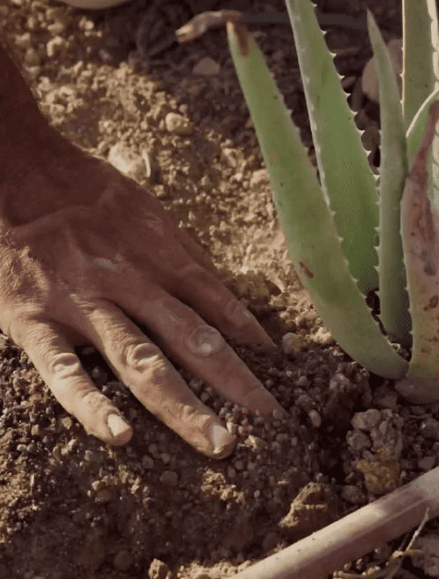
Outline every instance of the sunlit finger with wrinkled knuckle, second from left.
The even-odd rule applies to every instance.
[[[204,455],[223,458],[232,452],[235,437],[119,308],[94,304],[83,323],[86,336],[145,408]]]

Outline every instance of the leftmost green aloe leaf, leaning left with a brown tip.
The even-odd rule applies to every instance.
[[[381,376],[402,377],[407,362],[381,334],[350,275],[315,170],[261,51],[242,25],[228,22],[227,28],[289,256],[303,286],[334,339],[354,360]]]

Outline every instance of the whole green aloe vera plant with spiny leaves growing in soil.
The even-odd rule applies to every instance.
[[[334,339],[367,370],[400,379],[419,402],[439,398],[439,36],[435,0],[402,0],[402,99],[372,13],[381,167],[367,161],[310,0],[286,0],[320,181],[263,54],[240,13],[204,13],[181,41],[227,22],[289,256]],[[431,147],[433,143],[433,147]],[[380,319],[367,293],[379,288]],[[391,341],[411,346],[409,362]]]

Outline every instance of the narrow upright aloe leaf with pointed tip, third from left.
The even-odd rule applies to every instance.
[[[381,322],[405,346],[411,344],[409,297],[405,286],[404,255],[400,235],[400,202],[407,176],[407,140],[395,71],[371,12],[367,27],[374,51],[381,115],[381,167],[379,199],[379,302]]]

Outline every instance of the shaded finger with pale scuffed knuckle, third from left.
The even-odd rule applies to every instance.
[[[121,301],[120,307],[152,332],[166,354],[223,396],[252,411],[283,412],[218,330],[181,301],[159,288],[153,299],[126,292]]]

